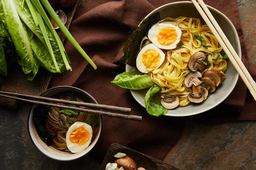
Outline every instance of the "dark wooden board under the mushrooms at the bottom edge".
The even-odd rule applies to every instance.
[[[99,170],[105,170],[106,165],[109,162],[114,163],[116,160],[114,155],[119,152],[125,153],[127,156],[130,156],[137,163],[138,167],[144,167],[146,170],[180,170],[176,167],[173,167],[172,165],[166,164],[150,156],[146,156],[143,153],[137,152],[116,143],[111,144],[108,148],[108,152],[106,153]]]

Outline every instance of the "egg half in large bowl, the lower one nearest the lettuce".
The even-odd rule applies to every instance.
[[[137,69],[142,73],[150,73],[163,64],[165,54],[154,44],[145,45],[136,59]]]

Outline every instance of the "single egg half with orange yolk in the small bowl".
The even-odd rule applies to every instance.
[[[66,143],[72,153],[78,153],[87,148],[93,137],[93,129],[84,122],[76,122],[67,130]]]

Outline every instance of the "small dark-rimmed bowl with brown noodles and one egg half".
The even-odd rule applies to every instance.
[[[84,102],[90,102],[90,103],[97,104],[97,101],[87,92],[85,92],[79,88],[74,88],[74,87],[69,87],[69,86],[59,86],[59,87],[51,88],[51,89],[45,91],[43,94],[41,94],[41,96],[52,97],[57,94],[68,93],[68,92],[81,96]],[[102,116],[100,116],[99,131],[98,131],[96,137],[91,141],[90,145],[86,149],[82,150],[79,153],[67,153],[67,152],[61,152],[51,146],[47,146],[47,144],[45,144],[43,142],[43,140],[40,139],[40,136],[38,135],[38,133],[35,129],[35,125],[34,125],[34,122],[32,119],[34,109],[36,107],[37,107],[37,105],[33,105],[32,109],[29,113],[28,131],[29,131],[29,137],[30,137],[32,143],[35,145],[35,147],[41,153],[43,153],[45,156],[47,156],[51,159],[55,159],[58,161],[71,161],[71,160],[79,159],[82,156],[89,153],[91,150],[93,150],[93,148],[95,147],[96,143],[98,142],[98,140],[102,134],[102,129],[103,129],[103,117]]]

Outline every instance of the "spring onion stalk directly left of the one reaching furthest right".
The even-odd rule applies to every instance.
[[[54,35],[56,41],[57,41],[57,44],[58,44],[58,48],[60,49],[60,52],[61,52],[61,56],[63,58],[63,61],[64,61],[64,64],[66,66],[66,69],[67,70],[70,70],[72,71],[72,68],[70,67],[68,61],[67,61],[67,57],[64,53],[64,47],[62,45],[62,42],[60,40],[60,38],[58,37],[58,34],[57,32],[55,31],[55,29],[53,28],[52,26],[52,23],[51,21],[49,20],[47,14],[45,13],[44,11],[44,8],[43,6],[41,5],[40,1],[39,0],[32,0],[32,3],[33,5],[35,6],[35,8],[38,10],[38,12],[41,14],[42,18],[44,19],[45,23],[47,24],[47,26],[49,27],[49,29],[51,30],[52,34]],[[52,8],[52,7],[50,7]],[[52,9],[53,10],[53,9]],[[54,12],[55,13],[55,12]],[[55,13],[56,14],[56,13]],[[66,27],[65,27],[66,28]],[[67,28],[66,28],[67,29]],[[67,37],[67,36],[66,36]]]

